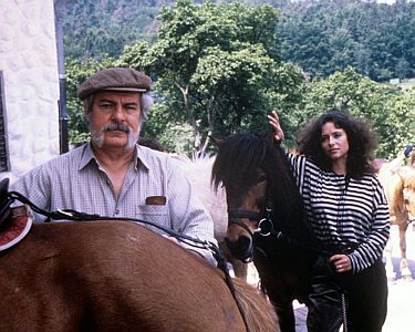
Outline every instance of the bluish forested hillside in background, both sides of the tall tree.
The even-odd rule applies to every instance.
[[[72,0],[64,19],[65,56],[117,58],[124,45],[154,41],[157,14],[173,0]],[[204,1],[194,1],[204,2]],[[212,1],[229,2],[229,1]],[[353,66],[377,82],[415,76],[415,2],[245,0],[280,10],[276,49],[311,76]]]

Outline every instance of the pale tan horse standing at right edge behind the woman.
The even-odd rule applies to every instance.
[[[386,163],[382,165],[378,178],[387,197],[391,225],[397,225],[400,230],[401,276],[405,280],[412,280],[412,272],[406,259],[406,230],[409,221],[415,218],[415,168],[401,167],[396,172],[392,172]],[[390,280],[395,279],[391,239],[386,247],[386,272]]]

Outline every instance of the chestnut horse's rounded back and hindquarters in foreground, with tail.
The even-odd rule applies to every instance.
[[[37,224],[0,252],[0,331],[278,331],[234,284],[238,302],[219,269],[134,222]]]

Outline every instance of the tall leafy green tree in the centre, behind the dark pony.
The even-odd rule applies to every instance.
[[[165,8],[159,20],[155,43],[126,48],[120,63],[155,79],[164,112],[170,122],[193,128],[197,152],[205,153],[209,135],[263,129],[276,101],[279,107],[295,103],[286,96],[280,77],[283,73],[294,81],[295,92],[303,75],[294,65],[281,71],[274,34],[278,12],[271,7],[179,0]],[[156,116],[163,123],[162,114]]]

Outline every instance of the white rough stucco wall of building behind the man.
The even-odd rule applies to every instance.
[[[0,0],[0,71],[13,181],[59,155],[53,0]]]

